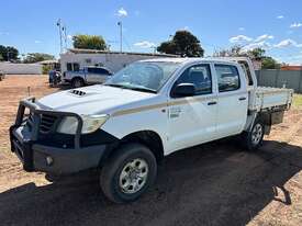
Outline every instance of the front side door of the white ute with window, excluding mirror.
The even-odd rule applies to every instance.
[[[180,83],[193,83],[193,97],[172,98]],[[210,64],[187,68],[178,78],[168,101],[169,152],[215,139],[217,95]]]

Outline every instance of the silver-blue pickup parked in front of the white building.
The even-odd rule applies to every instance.
[[[74,88],[83,87],[87,84],[103,83],[112,72],[104,67],[85,67],[79,71],[65,71],[63,81],[71,83]]]

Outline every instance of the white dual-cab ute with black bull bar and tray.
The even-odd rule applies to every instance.
[[[103,193],[131,202],[176,150],[234,135],[257,149],[282,122],[292,94],[257,87],[247,58],[142,60],[104,84],[22,100],[11,149],[26,171],[98,168]]]

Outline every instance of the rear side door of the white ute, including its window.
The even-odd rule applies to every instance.
[[[215,64],[217,79],[217,138],[239,134],[246,123],[248,92],[242,68]]]

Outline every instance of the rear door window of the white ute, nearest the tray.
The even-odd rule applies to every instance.
[[[241,88],[239,72],[233,65],[215,65],[219,91],[228,92]]]

